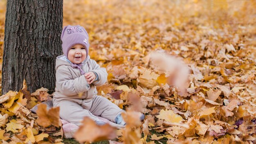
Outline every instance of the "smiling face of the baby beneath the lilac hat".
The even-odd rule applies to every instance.
[[[86,59],[86,50],[85,47],[81,44],[76,44],[72,46],[68,52],[67,58],[72,62],[79,64]]]

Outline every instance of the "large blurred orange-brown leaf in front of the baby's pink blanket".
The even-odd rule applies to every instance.
[[[97,125],[94,120],[85,117],[82,125],[74,134],[79,142],[96,142],[101,140],[112,140],[116,137],[116,129],[109,124]]]

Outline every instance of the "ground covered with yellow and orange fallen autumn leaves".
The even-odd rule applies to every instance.
[[[90,57],[108,71],[98,94],[127,111],[121,130],[84,119],[77,141],[256,143],[255,1],[65,0],[63,5],[63,26],[84,26]],[[28,92],[25,81],[20,92],[1,96],[0,142],[75,143],[62,138],[58,108],[29,111],[51,96],[45,88]],[[143,122],[137,111],[145,114]]]

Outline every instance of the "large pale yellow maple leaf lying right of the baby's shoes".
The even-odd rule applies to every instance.
[[[180,123],[183,121],[182,117],[175,114],[172,110],[161,110],[157,118],[161,120],[166,120],[167,122],[176,122]]]

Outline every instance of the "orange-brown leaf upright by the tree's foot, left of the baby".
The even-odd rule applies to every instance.
[[[51,124],[59,127],[59,113],[60,107],[52,107],[47,111],[47,105],[40,103],[36,110],[36,114],[38,115],[36,122],[43,127],[48,127]]]

